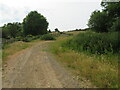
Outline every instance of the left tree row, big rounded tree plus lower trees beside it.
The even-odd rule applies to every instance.
[[[49,23],[47,19],[37,11],[31,11],[22,23],[14,22],[4,24],[2,27],[2,38],[10,39],[27,35],[43,35],[46,34]]]

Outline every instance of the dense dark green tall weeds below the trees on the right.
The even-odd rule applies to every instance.
[[[114,54],[120,53],[119,43],[118,32],[86,32],[80,33],[74,38],[67,40],[62,46],[78,52],[87,51],[92,54]]]

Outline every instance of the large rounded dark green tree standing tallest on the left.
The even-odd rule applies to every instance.
[[[23,20],[24,35],[43,35],[47,33],[48,22],[37,11],[31,11]]]

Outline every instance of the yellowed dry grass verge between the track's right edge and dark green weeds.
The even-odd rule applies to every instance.
[[[118,64],[109,63],[110,60],[117,59],[116,56],[89,55],[62,47],[67,38],[60,37],[51,44],[50,51],[60,62],[78,76],[79,80],[84,77],[100,88],[118,87]]]

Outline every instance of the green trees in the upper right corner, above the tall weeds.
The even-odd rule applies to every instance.
[[[88,26],[96,32],[119,31],[120,2],[102,2],[102,11],[94,11]]]

